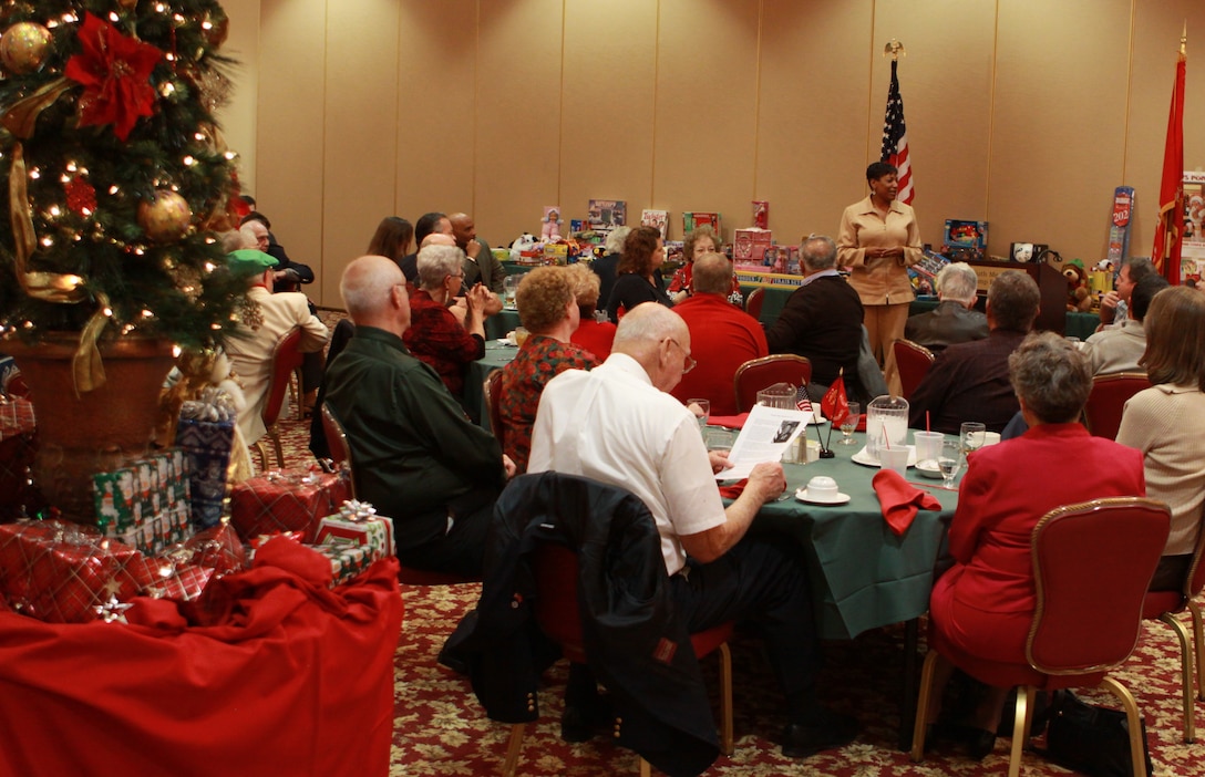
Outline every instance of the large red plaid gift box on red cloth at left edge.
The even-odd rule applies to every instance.
[[[58,520],[0,524],[0,594],[49,623],[94,620],[105,602],[146,588],[143,557],[90,526]]]

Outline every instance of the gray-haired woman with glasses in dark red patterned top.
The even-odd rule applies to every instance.
[[[406,347],[429,364],[452,395],[464,395],[465,367],[486,355],[484,308],[489,289],[475,286],[465,295],[464,323],[448,310],[464,279],[464,252],[455,246],[427,246],[418,252],[419,288],[410,299]]]

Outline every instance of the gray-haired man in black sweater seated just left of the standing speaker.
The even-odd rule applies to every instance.
[[[841,370],[846,393],[860,396],[862,300],[836,271],[836,243],[831,237],[812,235],[799,242],[804,282],[765,334],[770,353],[807,357],[812,363],[807,392],[813,400],[824,396]]]

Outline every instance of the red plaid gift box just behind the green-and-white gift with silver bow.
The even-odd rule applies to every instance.
[[[347,478],[334,472],[281,470],[253,477],[230,491],[230,524],[243,540],[302,531],[312,542],[318,522],[349,496]]]

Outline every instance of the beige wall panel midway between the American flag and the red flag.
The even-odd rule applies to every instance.
[[[1000,5],[991,253],[1033,241],[1086,264],[1104,255],[1123,176],[1129,27],[1129,0]]]

